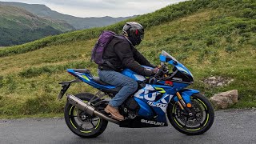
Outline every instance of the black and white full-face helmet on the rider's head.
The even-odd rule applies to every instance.
[[[122,28],[122,32],[134,46],[140,44],[144,38],[144,28],[138,22],[126,22],[126,25]]]

